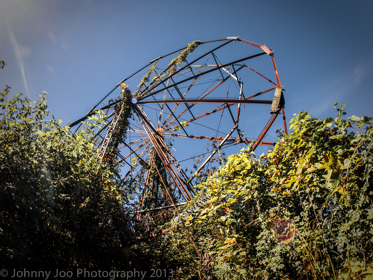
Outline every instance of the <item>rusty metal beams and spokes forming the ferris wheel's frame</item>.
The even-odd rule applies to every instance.
[[[229,63],[218,63],[215,55],[215,51],[219,50],[220,48],[226,46],[232,41],[239,41],[245,44],[248,44],[250,46],[257,47],[260,49],[261,52],[244,57],[242,59],[235,60],[233,62]],[[125,161],[126,158],[128,158],[131,155],[136,155],[137,159],[135,161],[135,164],[132,165],[132,167],[129,169],[127,174],[122,178],[120,184],[122,184],[126,178],[128,178],[128,175],[130,172],[132,172],[135,169],[135,166],[140,162],[142,167],[147,169],[147,173],[145,176],[145,183],[142,189],[142,195],[140,198],[140,209],[139,211],[141,212],[141,207],[144,205],[144,200],[146,199],[146,192],[147,192],[147,186],[149,183],[149,174],[150,174],[150,168],[152,166],[152,157],[150,158],[150,162],[147,162],[146,158],[143,158],[145,155],[145,150],[147,150],[149,153],[157,153],[159,156],[162,164],[164,165],[164,168],[167,171],[167,174],[172,178],[173,182],[175,183],[175,186],[178,188],[179,192],[182,194],[186,202],[189,202],[191,199],[192,195],[192,186],[191,181],[192,179],[200,172],[206,164],[209,163],[210,159],[214,156],[214,154],[222,148],[222,146],[230,144],[230,143],[247,143],[247,144],[252,144],[251,149],[255,150],[258,145],[267,145],[267,146],[273,146],[275,143],[273,142],[267,142],[263,141],[264,136],[274,123],[276,117],[279,115],[280,111],[282,112],[283,116],[283,123],[284,123],[284,128],[285,128],[285,133],[288,133],[287,126],[286,126],[286,119],[285,119],[285,111],[284,111],[284,99],[282,95],[282,85],[280,82],[279,74],[278,74],[278,69],[276,66],[276,62],[273,56],[272,50],[268,49],[264,45],[256,44],[247,40],[243,40],[238,37],[227,37],[226,39],[219,39],[219,40],[211,40],[211,41],[205,41],[202,44],[207,44],[207,43],[213,43],[213,42],[223,42],[219,46],[215,47],[213,50],[210,50],[209,52],[205,52],[203,55],[198,56],[197,59],[191,60],[191,62],[185,62],[184,65],[182,65],[178,70],[173,72],[171,76],[166,76],[162,78],[161,81],[151,84],[149,87],[145,86],[145,89],[140,91],[139,93],[139,98],[137,100],[137,104],[133,106],[132,112],[134,113],[135,120],[140,121],[141,126],[137,123],[137,128],[132,128],[131,126],[127,131],[129,132],[134,132],[134,133],[140,133],[141,137],[140,139],[130,141],[129,143],[123,143],[122,145],[118,146],[118,143],[115,143],[113,146],[117,150],[117,153],[120,153],[120,149],[122,148],[128,148],[129,153],[126,156],[120,155],[120,160],[118,163]],[[134,75],[138,74],[145,68],[151,65],[154,61],[160,60],[166,56],[172,55],[174,53],[177,53],[181,50],[184,50],[184,48],[176,50],[175,52],[171,52],[167,55],[157,57],[156,59],[152,60],[150,63],[142,67],[140,70],[134,72],[133,74],[129,75],[127,78],[124,78],[120,83],[124,83],[126,80],[128,80],[131,77],[134,77]],[[264,51],[264,52],[263,52]],[[260,74],[253,68],[249,67],[248,65],[245,65],[244,62],[247,60],[253,59],[258,56],[263,56],[263,55],[269,55],[270,59],[272,61],[273,69],[275,70],[275,76],[276,76],[276,82],[273,82],[269,78],[265,77],[264,75]],[[204,59],[204,57],[207,57],[208,55],[212,55],[212,58],[214,59],[216,64],[204,64],[204,65],[193,65],[197,61],[201,61],[201,59]],[[207,60],[206,60],[207,61]],[[238,64],[241,63],[241,64]],[[243,63],[243,64],[242,64]],[[168,68],[170,68],[172,65],[169,65]],[[238,68],[235,66],[239,66]],[[196,68],[197,67],[197,68]],[[168,68],[166,68],[164,71],[166,71]],[[235,69],[237,68],[237,69]],[[199,69],[198,73],[195,74],[193,71],[194,69]],[[253,94],[249,97],[244,97],[243,93],[243,82],[240,81],[238,78],[238,71],[241,69],[250,69],[257,75],[263,77],[275,87],[269,88],[267,90],[261,91],[259,93]],[[191,90],[192,86],[194,86],[195,82],[198,80],[203,75],[207,75],[210,73],[213,73],[214,71],[219,71],[220,76],[213,82],[211,82],[211,85],[205,90],[207,91],[206,93],[204,92],[201,94],[200,97],[198,98],[186,98],[186,95],[188,94],[189,90]],[[185,74],[190,75],[188,77],[184,77]],[[224,74],[224,75],[223,75]],[[225,75],[227,76],[225,77]],[[176,80],[176,78],[181,77],[180,80]],[[226,99],[219,99],[219,98],[207,98],[209,94],[214,92],[214,90],[217,90],[225,81],[228,79],[231,79],[232,81],[234,80],[235,83],[238,83],[239,85],[239,98],[238,99],[228,99],[228,93],[227,93],[227,98]],[[73,122],[70,124],[70,126],[74,126],[79,124],[79,122],[84,121],[88,116],[91,116],[94,114],[94,109],[97,108],[105,98],[111,94],[115,88],[117,88],[120,83],[116,84],[116,86],[111,90],[100,102],[98,102],[95,106],[92,107],[92,109],[84,116],[83,118],[79,119],[76,122]],[[190,83],[188,88],[185,90],[181,91],[181,88],[179,88],[179,85],[181,84],[187,84]],[[217,83],[217,84],[216,84]],[[211,89],[209,89],[212,87]],[[269,91],[275,90],[276,89],[281,89],[281,96],[278,100],[278,103],[275,103],[274,100],[256,100],[254,99],[255,97],[260,96],[261,94],[268,93]],[[179,96],[180,98],[175,99],[174,96],[172,95],[172,92],[170,90],[175,90],[176,91],[176,96]],[[155,96],[158,93],[163,93],[162,99],[156,99]],[[167,94],[172,99],[166,99]],[[275,93],[276,95],[276,93]],[[175,96],[175,97],[176,97]],[[150,100],[152,98],[153,100]],[[112,109],[114,106],[120,102],[120,100],[116,100],[114,102],[111,102],[110,104],[101,107],[100,109]],[[171,109],[170,104],[175,103],[175,106]],[[205,112],[200,115],[193,115],[191,109],[193,106],[200,104],[200,103],[216,103],[217,107],[214,109],[211,109],[208,112]],[[160,108],[160,114],[159,118],[157,119],[157,124],[153,125],[151,120],[148,118],[144,110],[141,108],[141,105],[151,105],[151,104],[156,104],[157,108],[159,106]],[[182,111],[181,113],[176,114],[176,109],[180,104],[185,105],[185,110]],[[239,123],[239,118],[240,118],[240,111],[241,111],[241,104],[252,104],[252,105],[273,105],[272,107],[276,107],[278,105],[278,108],[273,109],[273,115],[267,122],[266,126],[264,129],[261,131],[260,135],[257,137],[256,140],[248,140],[246,139],[247,137],[241,137],[240,130],[238,129],[238,123]],[[182,110],[184,109],[184,105]],[[237,108],[237,114],[236,117],[233,116],[233,113],[231,111],[231,106],[233,105],[238,105]],[[166,107],[164,107],[166,106]],[[166,116],[166,112],[167,116]],[[192,118],[187,118],[185,119],[185,123],[191,123],[194,122],[198,119],[204,118],[205,116],[211,115],[213,113],[217,113],[220,111],[223,111],[224,109],[228,108],[229,114],[232,116],[233,122],[234,122],[234,127],[233,129],[227,134],[227,136],[222,139],[221,137],[209,137],[209,136],[195,136],[195,135],[190,135],[187,133],[183,125],[181,124],[181,117],[186,113],[190,112]],[[224,111],[223,111],[224,112]],[[112,113],[113,115],[114,113]],[[162,116],[166,116],[164,121],[162,122]],[[119,114],[114,114],[113,119],[110,121],[109,125],[106,125],[104,128],[102,128],[99,132],[100,134],[103,133],[104,130],[107,130],[106,136],[103,137],[103,141],[101,141],[100,145],[100,161],[104,162],[106,160],[105,158],[105,153],[106,150],[109,149],[109,145],[113,144],[110,142],[111,140],[111,132],[114,131],[116,121],[119,119],[120,113]],[[177,122],[177,124],[176,124]],[[155,122],[154,122],[155,123]],[[182,131],[184,131],[185,134],[175,134],[173,133],[172,130],[175,130],[176,128],[181,128]],[[231,137],[233,131],[236,131],[238,133],[238,137]],[[217,131],[218,132],[218,131]],[[197,169],[197,171],[193,174],[192,177],[188,177],[185,173],[185,171],[181,168],[180,164],[178,161],[176,161],[175,157],[173,156],[173,153],[170,151],[170,148],[167,146],[167,144],[164,142],[163,137],[181,137],[181,138],[189,138],[189,139],[203,139],[203,140],[209,140],[209,141],[219,141],[220,143],[217,145],[217,147],[211,151],[210,156],[207,157],[207,159],[204,161],[204,163],[200,166],[200,168]],[[231,138],[230,138],[231,137]],[[238,139],[241,140],[241,142],[237,142]],[[132,147],[135,146],[135,147]],[[145,148],[144,148],[145,146]],[[142,152],[137,152],[138,150],[142,150]],[[126,161],[125,161],[126,162]],[[127,162],[126,162],[127,163]],[[128,164],[128,163],[127,163]],[[160,175],[159,170],[157,169],[157,173]],[[161,178],[162,180],[162,178]],[[169,196],[168,190],[167,190],[167,184],[162,180],[162,186],[166,189],[167,195]],[[171,196],[169,196],[172,201]],[[175,203],[172,201],[173,205]],[[176,208],[176,207],[175,207]],[[140,215],[140,212],[138,212]],[[140,216],[138,216],[140,217]]]

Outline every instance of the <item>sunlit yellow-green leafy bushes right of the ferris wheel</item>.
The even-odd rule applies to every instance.
[[[210,200],[148,250],[178,279],[372,279],[372,119],[343,109],[300,112],[267,155],[229,156],[199,186]]]

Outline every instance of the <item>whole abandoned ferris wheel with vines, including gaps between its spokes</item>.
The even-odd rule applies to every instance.
[[[151,60],[71,126],[106,111],[100,161],[122,166],[119,185],[137,189],[139,217],[189,203],[238,146],[274,146],[264,137],[279,114],[287,134],[284,105],[272,50],[227,37]]]

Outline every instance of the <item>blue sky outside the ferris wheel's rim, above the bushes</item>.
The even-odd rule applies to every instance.
[[[372,1],[0,2],[0,84],[75,121],[124,77],[194,40],[239,36],[274,50],[288,121],[302,108],[373,116]],[[113,96],[115,97],[115,96]],[[274,139],[272,139],[274,140]]]

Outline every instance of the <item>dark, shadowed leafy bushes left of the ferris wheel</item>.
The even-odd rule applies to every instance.
[[[72,133],[45,119],[45,95],[32,105],[22,94],[8,99],[9,89],[0,94],[2,268],[117,267],[126,198],[98,162],[93,128],[103,112]]]

